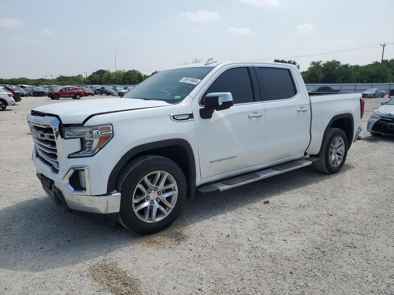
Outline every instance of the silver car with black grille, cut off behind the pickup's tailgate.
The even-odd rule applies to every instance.
[[[394,135],[394,98],[382,101],[382,106],[372,112],[367,131],[374,136]]]

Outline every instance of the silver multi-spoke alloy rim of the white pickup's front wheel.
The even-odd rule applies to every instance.
[[[134,214],[146,223],[166,218],[177,203],[178,186],[174,177],[165,171],[145,175],[133,193]]]

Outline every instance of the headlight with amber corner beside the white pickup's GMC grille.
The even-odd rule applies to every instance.
[[[104,147],[113,137],[112,124],[100,126],[66,127],[64,138],[80,138],[81,150],[69,158],[91,157]]]

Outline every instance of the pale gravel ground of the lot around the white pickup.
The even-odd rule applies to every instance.
[[[340,173],[306,167],[199,196],[139,236],[46,197],[26,116],[65,100],[23,98],[0,113],[0,294],[394,294],[394,137],[366,132],[381,100],[366,101]]]

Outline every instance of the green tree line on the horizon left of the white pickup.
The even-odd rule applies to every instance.
[[[20,78],[11,78],[11,79],[1,79],[0,84],[9,84],[9,85],[137,85],[149,78],[151,75],[145,75],[139,72],[138,70],[117,70],[116,76],[115,72],[111,72],[110,70],[97,70],[91,73],[89,76],[84,77],[81,74],[77,76],[58,76],[54,79],[28,79],[24,77]]]

